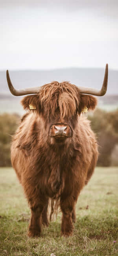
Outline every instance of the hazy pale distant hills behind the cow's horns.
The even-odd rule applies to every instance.
[[[54,80],[70,81],[77,86],[100,89],[105,69],[65,68],[54,70],[9,71],[13,86],[17,89],[42,86]],[[23,113],[20,98],[11,95],[7,86],[6,71],[0,71],[0,112]],[[105,110],[118,108],[118,71],[109,70],[107,94],[98,97],[98,107]]]

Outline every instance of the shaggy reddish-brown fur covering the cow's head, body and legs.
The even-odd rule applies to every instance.
[[[85,107],[93,110],[97,100],[79,93],[73,84],[52,82],[42,86],[39,94],[22,99],[26,110],[30,104],[36,110],[22,118],[11,146],[11,161],[31,208],[28,235],[38,236],[41,224],[48,225],[48,201],[52,198],[52,212],[57,200],[63,213],[61,233],[69,236],[77,198],[98,158],[95,135],[81,112]],[[50,137],[50,127],[57,123],[71,129],[71,136],[61,143]]]

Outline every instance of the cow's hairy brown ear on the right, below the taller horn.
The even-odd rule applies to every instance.
[[[80,94],[80,103],[79,103],[79,114],[84,112],[86,108],[88,110],[94,110],[98,101],[96,97],[87,94]]]

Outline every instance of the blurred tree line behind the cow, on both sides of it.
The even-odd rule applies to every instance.
[[[98,140],[98,166],[118,166],[118,110],[97,109],[88,118]],[[17,114],[0,115],[0,166],[11,166],[10,146],[19,121]]]

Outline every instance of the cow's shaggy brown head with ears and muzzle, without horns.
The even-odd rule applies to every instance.
[[[79,93],[79,89],[68,82],[52,82],[41,87],[39,94],[22,99],[22,105],[29,110],[32,105],[42,116],[44,129],[51,144],[64,144],[72,138],[78,115],[83,108],[93,110],[97,100],[93,96]]]

